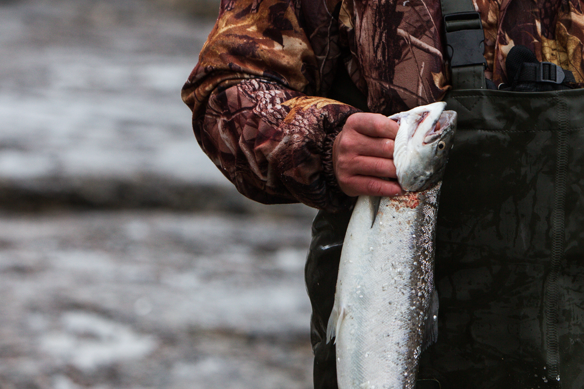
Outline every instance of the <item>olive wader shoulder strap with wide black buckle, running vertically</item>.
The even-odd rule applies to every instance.
[[[441,0],[452,86],[486,89],[485,33],[471,0]]]

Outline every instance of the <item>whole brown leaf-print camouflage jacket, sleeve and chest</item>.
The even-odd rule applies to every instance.
[[[583,2],[473,0],[485,75],[505,82],[516,44],[584,81]],[[327,98],[345,66],[369,110],[392,114],[449,89],[439,0],[222,0],[182,90],[197,141],[239,192],[266,204],[346,208],[332,143],[357,108]]]

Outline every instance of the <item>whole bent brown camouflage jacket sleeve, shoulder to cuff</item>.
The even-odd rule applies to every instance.
[[[221,3],[182,97],[201,148],[246,197],[349,206],[332,143],[356,108],[316,96],[319,61],[293,0]],[[330,38],[330,37],[328,37]]]

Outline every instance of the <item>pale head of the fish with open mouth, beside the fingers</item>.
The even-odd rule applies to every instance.
[[[456,112],[444,108],[446,103],[438,101],[390,116],[399,124],[394,164],[405,191],[423,191],[442,180],[457,118]]]

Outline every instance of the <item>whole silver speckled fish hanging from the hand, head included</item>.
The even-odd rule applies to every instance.
[[[357,198],[326,331],[339,389],[413,389],[420,353],[436,341],[436,214],[457,119],[445,108],[439,101],[390,116],[406,192]]]

